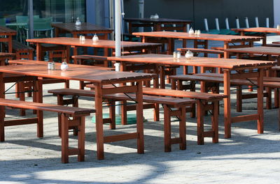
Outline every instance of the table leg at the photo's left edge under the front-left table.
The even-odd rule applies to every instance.
[[[3,73],[0,72],[0,98],[5,98],[4,92],[5,92],[5,84],[3,82]],[[0,106],[0,141],[5,141],[4,118],[5,118],[5,107]]]

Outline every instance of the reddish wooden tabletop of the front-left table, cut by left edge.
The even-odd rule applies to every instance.
[[[55,66],[56,70],[48,70],[46,65],[17,65],[17,66],[1,66],[0,72],[29,75],[36,77],[49,77],[55,79],[69,79],[78,81],[93,82],[95,84],[116,84],[143,79],[151,79],[155,77],[153,74],[140,72],[116,72],[109,70],[97,70],[91,66],[69,66],[66,71],[60,70],[59,66]]]

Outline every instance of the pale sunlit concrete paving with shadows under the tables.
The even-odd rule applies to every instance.
[[[61,87],[63,84],[44,85],[44,102],[56,104],[57,98],[47,90]],[[78,88],[78,82],[71,82],[71,87]],[[14,95],[7,98],[15,99]],[[90,98],[79,102],[80,107],[94,105]],[[233,116],[254,113],[258,102],[245,100],[242,113],[235,111],[235,105],[232,95]],[[6,127],[6,141],[0,143],[0,183],[279,183],[279,109],[265,109],[264,134],[258,135],[256,122],[248,121],[233,124],[232,138],[224,139],[223,102],[220,107],[218,144],[206,139],[205,145],[197,145],[196,118],[187,114],[187,149],[181,151],[179,145],[173,145],[172,152],[165,153],[163,122],[154,122],[152,110],[144,110],[145,153],[137,154],[135,140],[119,141],[105,144],[105,160],[97,160],[92,114],[86,118],[85,162],[71,156],[69,164],[60,162],[57,114],[44,112],[42,139],[36,137],[36,125]],[[31,110],[27,116],[34,116]],[[8,109],[6,118],[18,118],[18,110]],[[207,127],[209,121],[207,116]],[[179,123],[172,125],[176,136]],[[115,135],[132,132],[135,125],[117,125],[116,130],[104,125],[104,130],[106,135]],[[70,136],[71,145],[76,146],[76,139]]]

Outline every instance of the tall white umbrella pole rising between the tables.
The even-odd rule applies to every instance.
[[[115,35],[116,35],[116,56],[120,56],[120,22],[121,22],[121,10],[120,10],[120,0],[115,0]],[[115,64],[116,71],[120,71],[120,63]],[[120,106],[116,106],[116,114],[120,115]]]

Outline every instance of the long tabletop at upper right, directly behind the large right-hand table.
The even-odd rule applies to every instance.
[[[258,36],[234,36],[234,35],[218,35],[202,33],[200,36],[195,34],[172,31],[155,31],[155,32],[137,32],[132,33],[135,36],[151,36],[151,37],[163,37],[163,38],[178,38],[189,40],[218,40],[218,41],[246,41],[246,40],[260,40]]]

